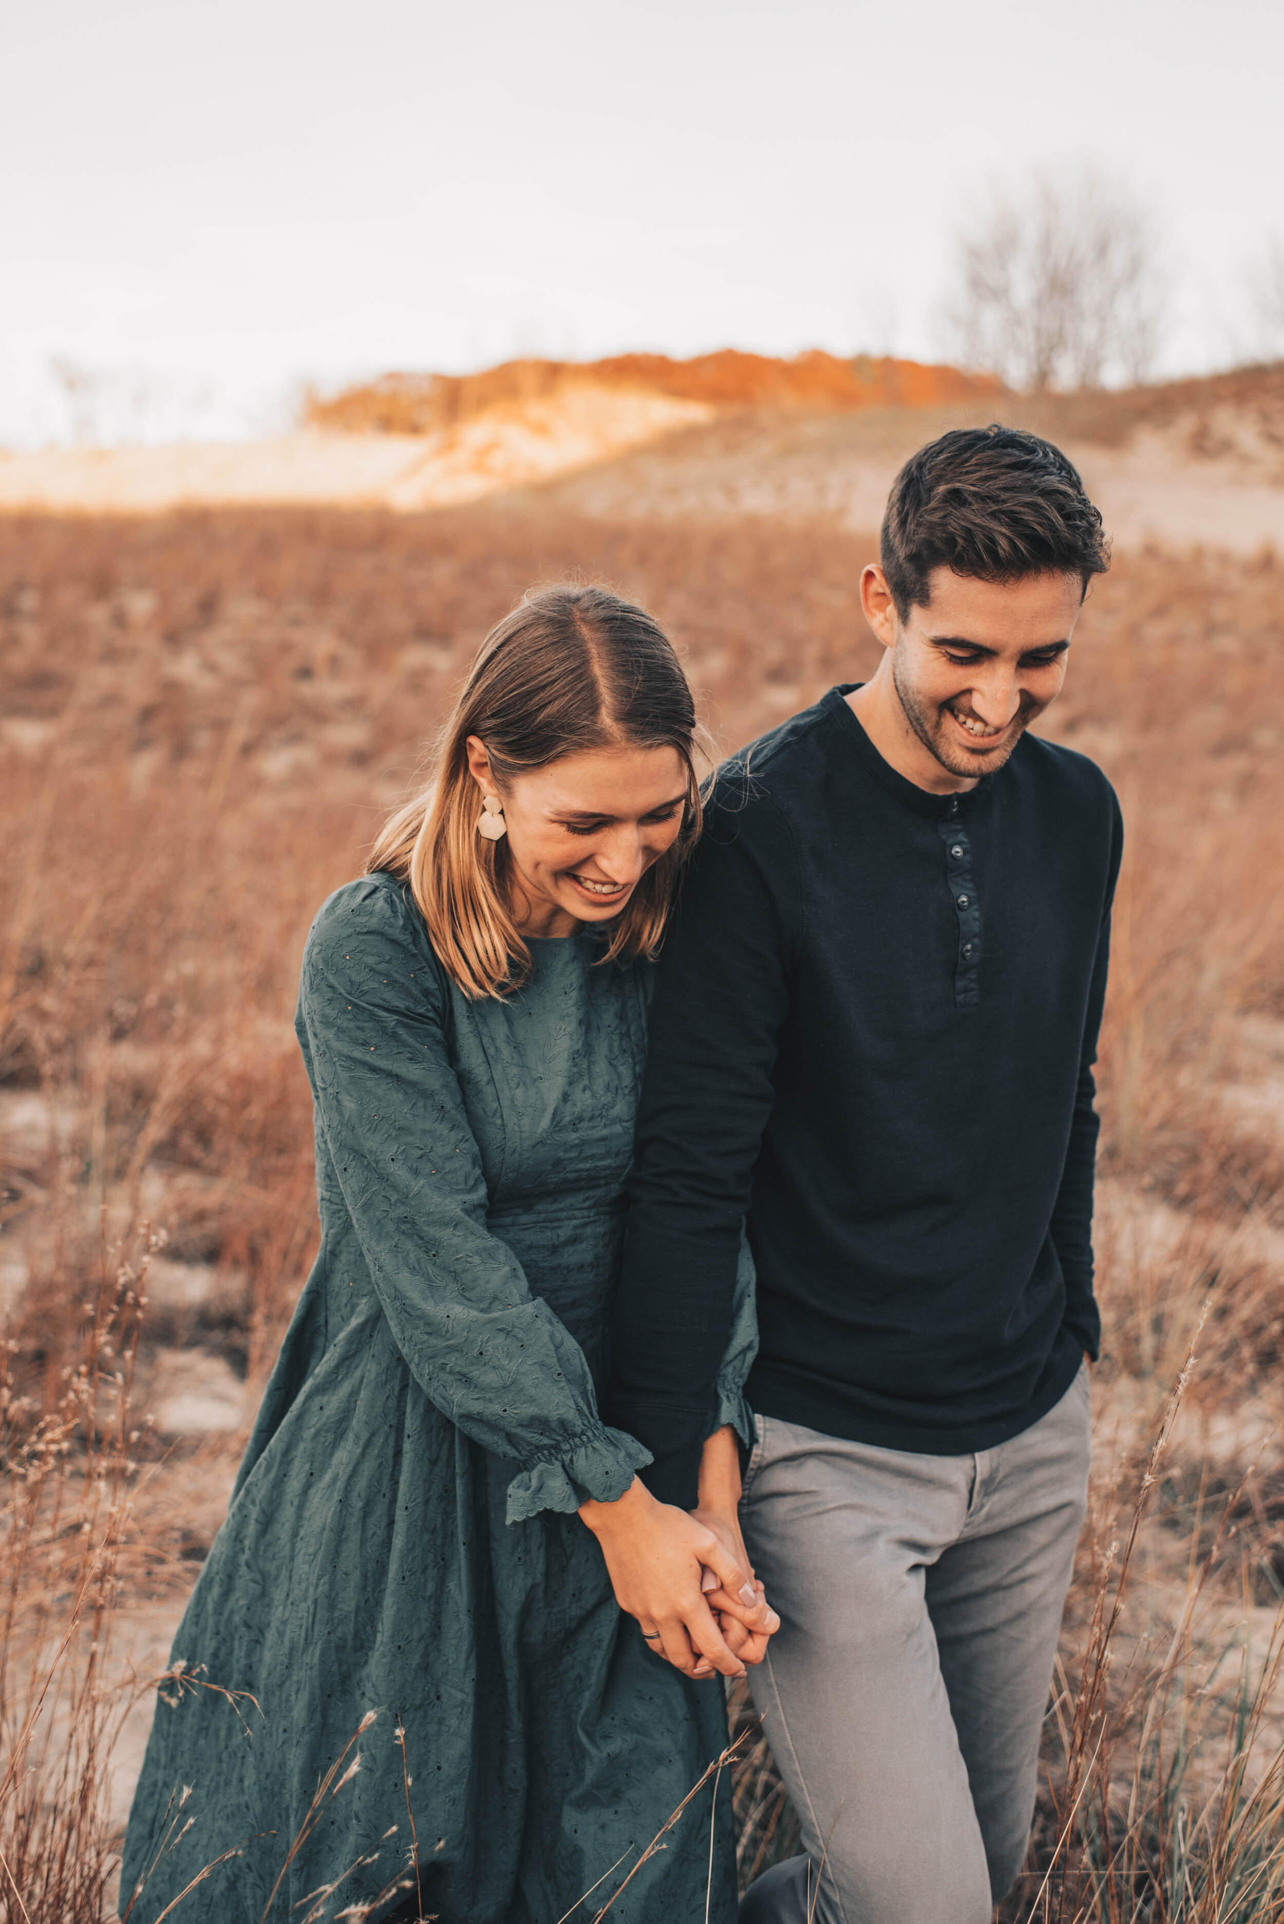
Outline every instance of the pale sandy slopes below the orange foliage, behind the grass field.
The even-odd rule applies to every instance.
[[[975,416],[980,419],[982,416]],[[604,518],[773,516],[871,529],[903,458],[973,414],[744,414],[663,394],[571,389],[436,435],[298,433],[167,448],[0,456],[0,512],[150,514],[181,506],[446,508],[536,489]],[[1284,552],[1284,464],[1244,421],[1067,441],[1121,548]]]

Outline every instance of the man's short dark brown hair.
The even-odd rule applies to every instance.
[[[928,604],[928,575],[976,581],[1078,575],[1111,564],[1101,516],[1061,448],[1017,427],[955,427],[911,454],[882,518],[882,571],[901,621]]]

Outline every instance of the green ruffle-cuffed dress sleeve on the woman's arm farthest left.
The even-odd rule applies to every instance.
[[[342,1201],[427,1397],[511,1458],[507,1520],[613,1503],[648,1453],[598,1416],[588,1362],[486,1229],[486,1181],[446,1049],[448,991],[384,879],[340,891],[304,954],[298,1031]]]

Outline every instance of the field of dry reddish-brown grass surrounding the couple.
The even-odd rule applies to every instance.
[[[308,1091],[290,1033],[304,935],[321,899],[359,870],[486,627],[531,581],[602,575],[671,627],[730,747],[869,671],[875,648],[855,600],[869,550],[832,527],[617,525],[552,508],[0,521],[0,1278],[12,1279],[6,1368],[17,1399],[6,1551],[29,1514],[13,1466],[38,1422],[69,1420],[102,1291],[115,1289],[131,1260],[123,1239],[142,1220],[163,1226],[167,1260],[210,1264],[221,1285],[194,1310],[148,1308],[138,1406],[163,1387],[161,1349],[215,1351],[261,1381],[313,1239]],[[1257,1795],[1259,1818],[1280,1812],[1280,1707],[1259,1657],[1244,1657],[1242,1626],[1269,1633],[1284,1574],[1284,1453],[1271,1439],[1284,1422],[1282,625],[1271,560],[1123,558],[1084,612],[1051,716],[1051,733],[1119,785],[1128,856],[1101,1060],[1099,1474],[1049,1722],[1044,1866],[1073,1822],[1038,1916],[1276,1914],[1274,1897],[1257,1903],[1265,1882],[1249,1887],[1257,1909],[1209,1897],[1207,1866],[1219,1851],[1230,1861],[1240,1849],[1242,1862],[1249,1843],[1265,1849],[1236,1830],[1228,1784],[1242,1782],[1242,1803]],[[25,1293],[13,1281],[23,1268]],[[1101,1622],[1119,1558],[1107,1551],[1126,1539],[1209,1295],[1111,1668]],[[98,1491],[106,1508],[94,1514],[110,1520],[117,1497],[77,1422],[60,1458],[75,1468],[67,1489],[77,1505]],[[161,1445],[144,1431],[131,1449],[148,1462]],[[190,1443],[167,1449],[152,1493],[111,1537],[125,1601],[194,1574],[175,1522]],[[225,1478],[225,1462],[215,1470]],[[31,1516],[35,1560],[23,1568],[38,1582],[23,1608],[54,1582],[40,1558],[62,1541],[44,1510]],[[98,1541],[94,1528],[85,1541]],[[196,1555],[204,1539],[198,1530]],[[58,1585],[75,1601],[69,1578]],[[102,1583],[90,1591],[83,1624]],[[1244,1662],[1255,1726],[1236,1689],[1222,1693],[1219,1639],[1232,1647],[1228,1674]],[[6,1645],[13,1666],[19,1641]],[[102,1678],[85,1668],[94,1641],[75,1641],[67,1691],[106,1707]],[[10,1668],[0,1774],[17,1757],[13,1707],[29,1701],[15,1678]],[[1192,1757],[1190,1741],[1171,1739],[1196,1722],[1207,1737]],[[60,1760],[58,1730],[67,1726],[42,1726],[50,1747],[27,1805],[0,1793],[0,1849],[12,1855],[23,1824],[35,1835],[33,1809],[50,1851],[56,1834],[79,1837],[71,1855],[88,1853],[92,1874],[31,1916],[88,1924],[110,1857],[106,1789],[100,1760],[88,1778]],[[1240,1766],[1253,1732],[1261,1757]],[[1213,1751],[1226,1734],[1222,1768]],[[50,1776],[62,1768],[83,1785],[75,1834],[58,1832],[71,1822]],[[778,1845],[788,1820],[777,1816]],[[1115,1868],[1098,1876],[1094,1864]],[[1182,1878],[1196,1895],[1180,1897]],[[1026,1911],[1036,1891],[1038,1878]]]

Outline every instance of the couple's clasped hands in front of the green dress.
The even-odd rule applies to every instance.
[[[580,1508],[621,1610],[688,1678],[742,1678],[780,1628],[744,1549],[738,1497],[736,1437],[721,1430],[705,1443],[694,1510],[659,1503],[636,1478],[617,1503]]]

